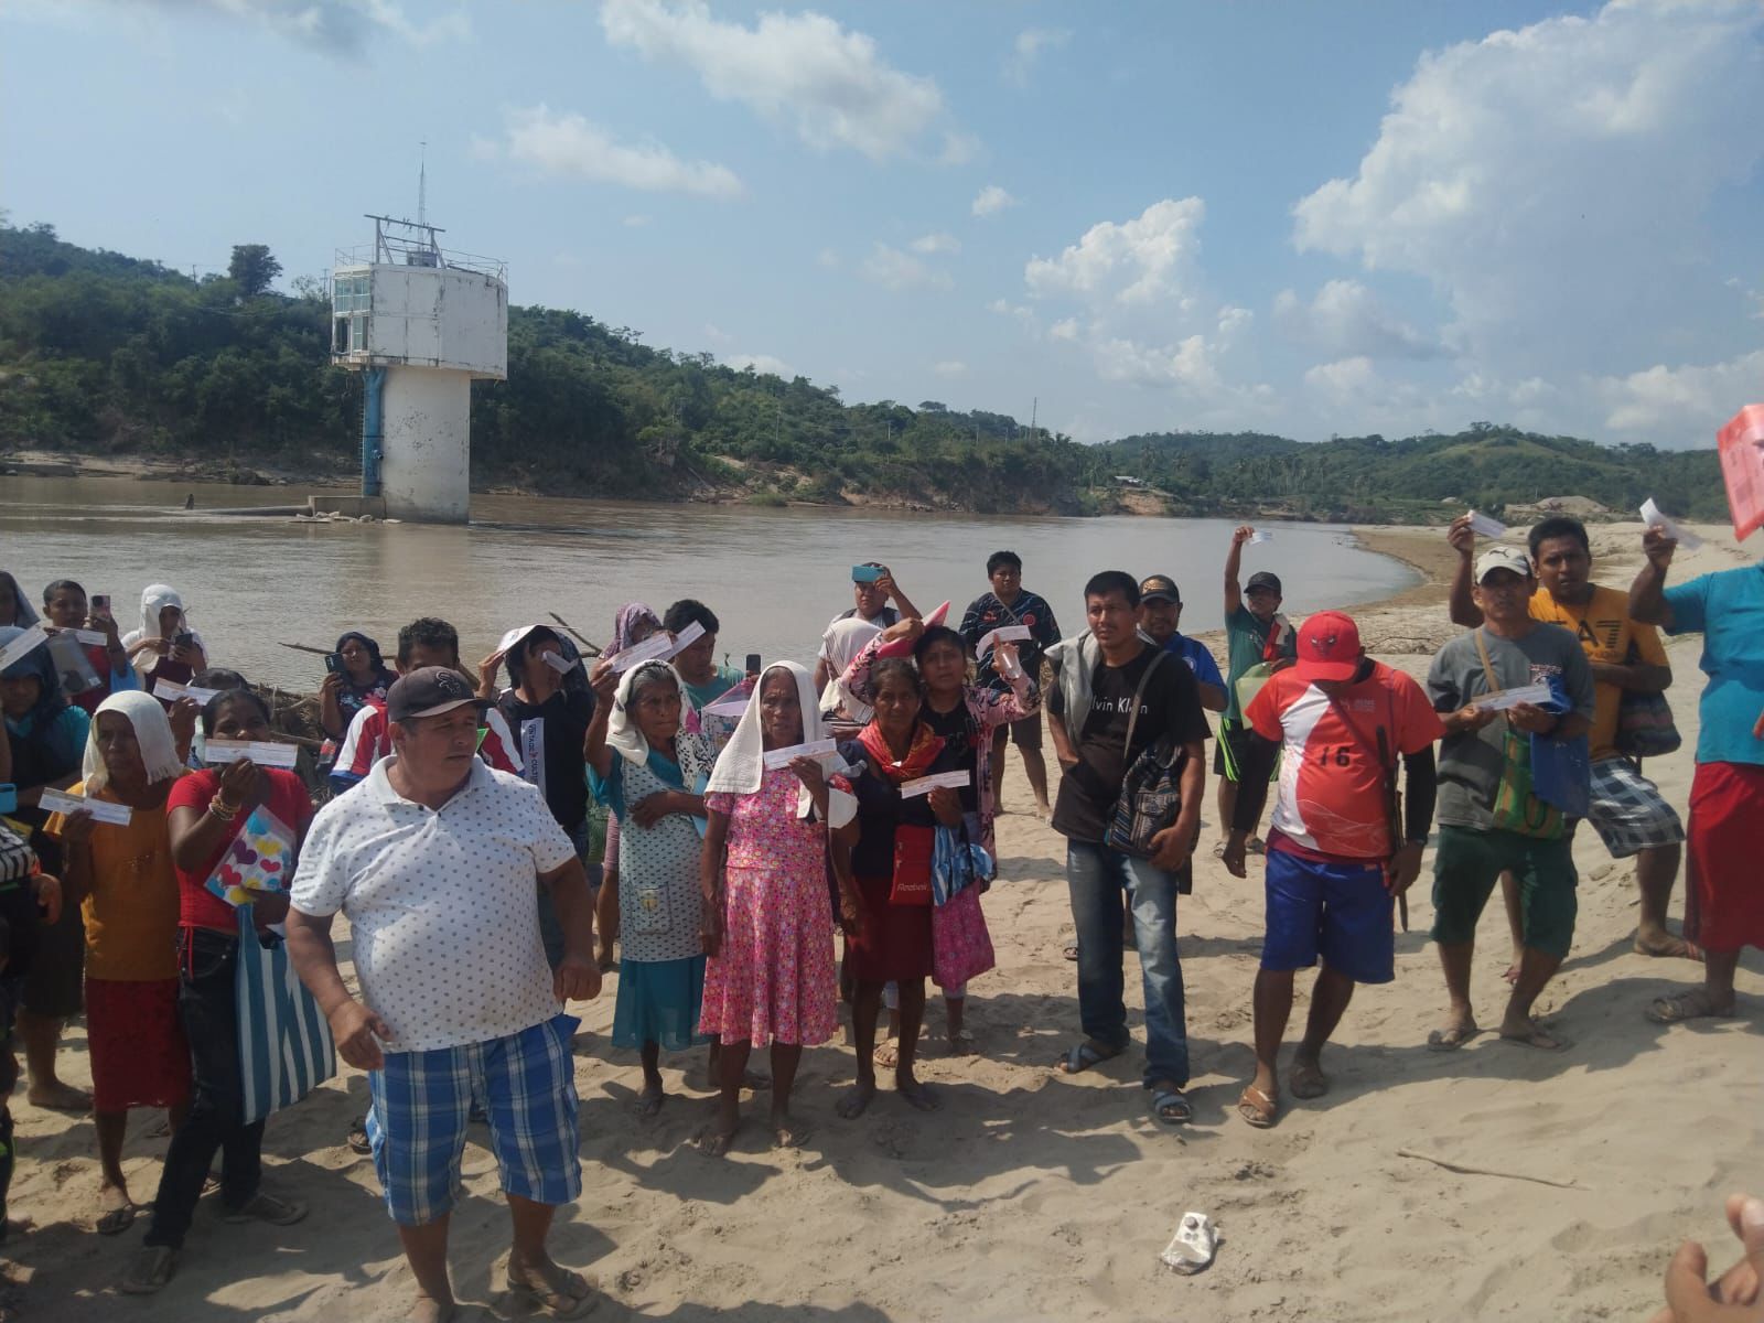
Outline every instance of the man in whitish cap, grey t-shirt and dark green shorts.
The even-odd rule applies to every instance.
[[[1439,649],[1427,691],[1445,721],[1439,746],[1439,848],[1434,856],[1434,928],[1450,998],[1427,1046],[1446,1051],[1480,1028],[1469,1002],[1476,921],[1503,871],[1519,878],[1522,953],[1501,1037],[1556,1050],[1561,1039],[1531,1020],[1531,1005],[1573,940],[1575,871],[1563,815],[1533,783],[1533,739],[1584,736],[1593,718],[1593,672],[1572,633],[1529,614],[1531,561],[1510,547],[1476,559],[1475,603],[1484,624]],[[1561,709],[1484,699],[1545,683]],[[1552,704],[1556,706],[1556,704]]]

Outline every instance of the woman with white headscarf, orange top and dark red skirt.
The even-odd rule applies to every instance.
[[[122,1170],[131,1108],[166,1108],[173,1127],[191,1097],[191,1048],[178,1023],[178,875],[166,797],[183,776],[164,707],[113,693],[92,718],[85,780],[74,794],[129,808],[125,824],[56,813],[69,903],[86,921],[86,1051],[99,1136],[97,1230],[115,1235],[136,1205]]]

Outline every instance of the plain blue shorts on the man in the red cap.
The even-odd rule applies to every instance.
[[[1265,970],[1311,968],[1321,954],[1325,965],[1355,983],[1397,977],[1395,905],[1381,863],[1323,863],[1270,848],[1267,889]]]

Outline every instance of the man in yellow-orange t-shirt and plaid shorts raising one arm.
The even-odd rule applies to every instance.
[[[1452,582],[1452,621],[1478,626],[1482,612],[1469,596],[1469,566],[1476,534],[1469,515],[1446,534],[1459,552]],[[1628,593],[1600,587],[1591,579],[1593,552],[1579,519],[1556,515],[1533,526],[1528,543],[1538,589],[1531,616],[1573,632],[1593,665],[1595,713],[1588,732],[1593,778],[1588,820],[1612,859],[1635,859],[1641,921],[1635,949],[1644,956],[1699,958],[1697,947],[1667,931],[1665,912],[1678,878],[1685,826],[1660,789],[1618,751],[1618,707],[1625,693],[1660,693],[1672,683],[1660,633],[1630,617]]]

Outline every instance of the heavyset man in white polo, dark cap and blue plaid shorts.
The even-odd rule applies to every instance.
[[[570,998],[600,993],[594,910],[575,847],[540,792],[475,757],[487,704],[459,672],[425,667],[386,695],[392,757],[312,822],[295,875],[288,949],[337,1050],[369,1071],[367,1131],[386,1208],[416,1277],[413,1319],[453,1314],[448,1214],[462,1192],[478,1102],[513,1219],[508,1288],[554,1314],[593,1307],[589,1282],[545,1251],[552,1214],[582,1189]],[[534,878],[564,930],[545,963]],[[349,919],[362,997],[337,972],[332,917]]]

